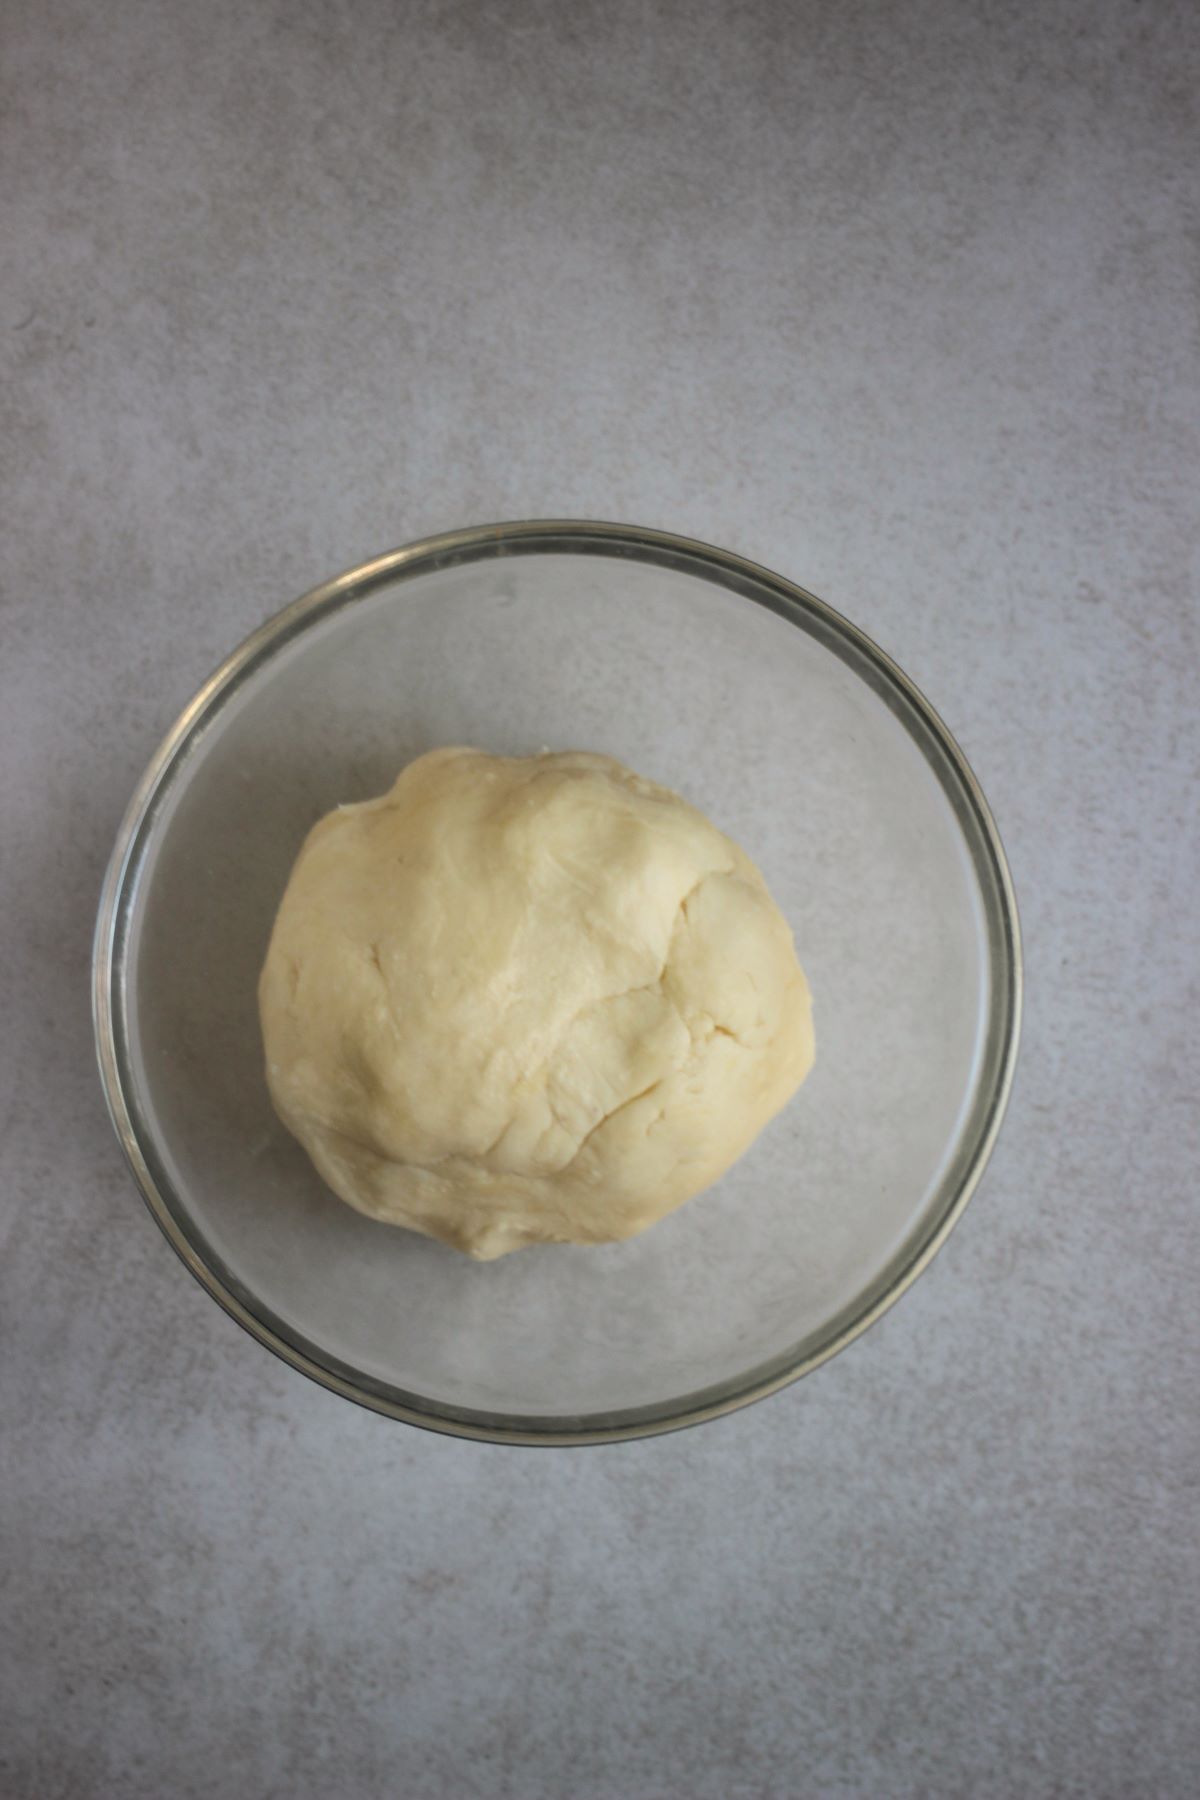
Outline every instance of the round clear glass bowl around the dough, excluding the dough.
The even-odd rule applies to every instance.
[[[336,1201],[272,1111],[255,981],[299,844],[439,743],[621,758],[736,837],[793,925],[813,1075],[628,1244],[473,1264]],[[534,522],[380,556],[230,655],[133,796],[94,1006],[139,1186],[241,1325],[396,1418],[576,1444],[770,1393],[912,1282],[1000,1123],[1020,949],[979,785],[862,632],[725,551]]]

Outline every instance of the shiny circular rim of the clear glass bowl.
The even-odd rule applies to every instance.
[[[905,1244],[842,1314],[770,1363],[714,1388],[648,1408],[543,1418],[452,1408],[338,1363],[241,1287],[216,1251],[205,1246],[200,1228],[187,1229],[191,1215],[173,1192],[157,1156],[155,1134],[137,1103],[126,1033],[126,950],[139,873],[175,776],[200,733],[261,666],[318,621],[387,583],[466,562],[545,553],[628,556],[703,576],[817,637],[867,680],[907,727],[955,812],[982,896],[991,979],[981,1076],[954,1154]],[[151,1217],[201,1287],[268,1350],[344,1399],[428,1431],[524,1445],[624,1442],[703,1424],[790,1386],[882,1318],[937,1255],[991,1156],[1016,1067],[1022,986],[1016,896],[991,808],[954,734],[909,675],[826,601],[745,556],[669,531],[574,518],[473,526],[417,538],[309,589],[243,639],[178,715],[130,799],[104,875],[92,950],[92,1019],[108,1112]]]

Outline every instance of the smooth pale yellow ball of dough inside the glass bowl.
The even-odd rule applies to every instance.
[[[813,1062],[757,868],[583,751],[432,751],[322,819],[259,1010],[279,1116],[335,1193],[479,1258],[646,1229]]]

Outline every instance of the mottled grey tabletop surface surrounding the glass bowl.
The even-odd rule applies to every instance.
[[[0,1793],[1195,1793],[1186,0],[4,9]],[[171,1256],[88,940],[209,668],[372,551],[705,536],[995,805],[1027,1028],[844,1357],[628,1447],[333,1399]]]

